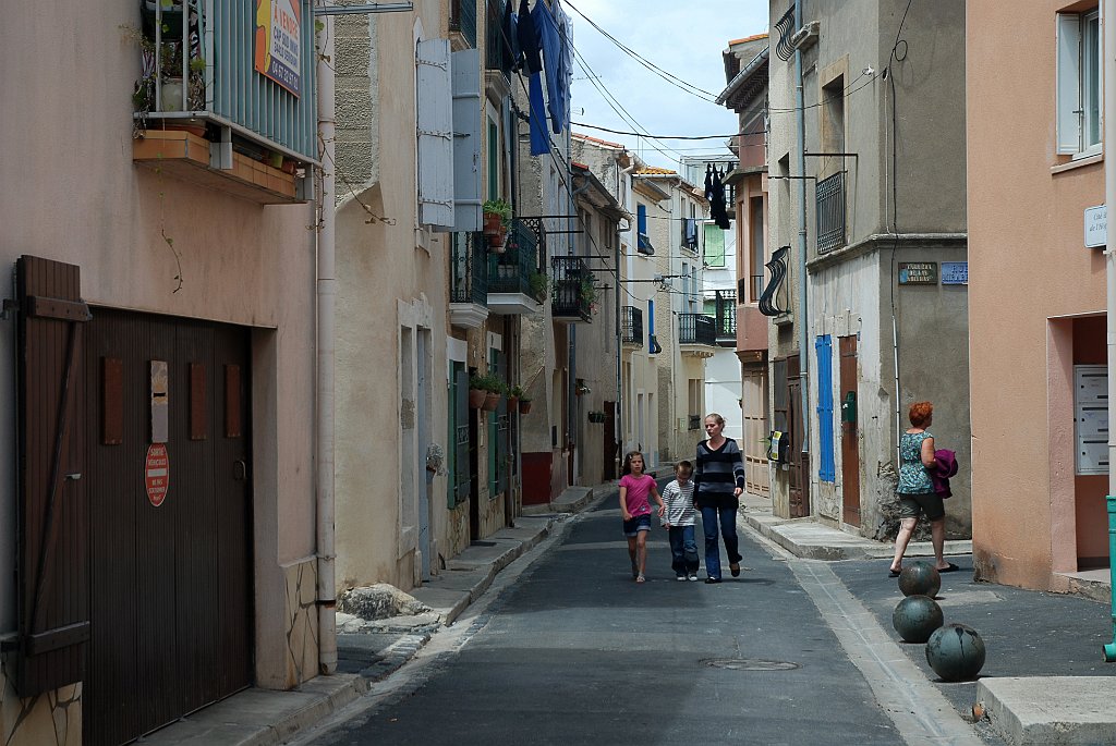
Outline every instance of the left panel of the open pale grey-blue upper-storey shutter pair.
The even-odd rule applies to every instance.
[[[453,226],[450,40],[419,42],[419,222]]]

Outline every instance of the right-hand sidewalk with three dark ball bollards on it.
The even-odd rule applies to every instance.
[[[845,588],[959,713],[983,708],[988,719],[975,727],[990,743],[1116,744],[1116,663],[1105,663],[1101,653],[1113,640],[1107,572],[1081,573],[1077,594],[978,583],[972,542],[947,541],[945,554],[961,571],[942,575],[936,600],[946,623],[978,631],[987,659],[977,681],[946,684],[927,665],[925,646],[902,642],[892,631],[892,611],[903,594],[887,577],[891,544],[810,520],[777,519],[762,497],[744,495],[742,504],[742,525],[796,556],[844,560],[831,566]],[[933,550],[914,542],[905,556],[933,556]]]

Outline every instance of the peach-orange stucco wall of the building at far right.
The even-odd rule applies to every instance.
[[[1072,339],[1058,317],[1105,310],[1104,256],[1083,235],[1103,165],[1055,147],[1060,7],[969,3],[965,19],[970,38],[1001,39],[966,52],[973,559],[980,578],[1052,590],[1051,571],[1076,565]],[[1026,52],[1026,75],[1006,51]]]

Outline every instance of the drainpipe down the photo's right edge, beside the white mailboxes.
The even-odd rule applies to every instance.
[[[1116,157],[1107,153],[1116,145],[1116,62],[1113,50],[1116,50],[1116,0],[1104,0],[1101,18],[1104,21],[1104,80],[1105,80],[1105,205],[1116,207]],[[1116,215],[1116,210],[1114,210]],[[1116,227],[1108,231],[1105,246],[1105,283],[1107,285],[1106,311],[1108,317],[1108,401],[1116,401]],[[1109,405],[1110,406],[1110,405]],[[1109,411],[1109,418],[1112,411]],[[1108,432],[1108,582],[1109,588],[1116,588],[1116,471],[1113,458],[1116,457],[1116,434]],[[1112,599],[1113,641],[1104,647],[1105,662],[1116,662],[1116,594]]]

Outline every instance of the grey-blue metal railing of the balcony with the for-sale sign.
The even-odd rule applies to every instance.
[[[141,6],[142,71],[133,94],[138,126],[147,119],[203,119],[227,133],[223,142],[235,133],[275,154],[317,162],[314,1],[295,2],[299,18],[281,27],[291,47],[264,57],[254,48],[262,29],[258,3],[147,0]],[[257,59],[264,70],[257,69]]]

